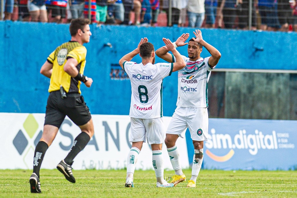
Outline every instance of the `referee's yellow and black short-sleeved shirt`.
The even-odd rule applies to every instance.
[[[48,92],[60,90],[60,86],[67,93],[81,93],[80,81],[72,78],[64,71],[64,65],[69,58],[77,60],[76,66],[79,73],[83,74],[86,65],[87,49],[76,41],[63,43],[48,56],[48,62],[53,64],[53,72],[50,77],[50,87]]]

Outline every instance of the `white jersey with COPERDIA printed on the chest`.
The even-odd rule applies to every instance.
[[[176,106],[181,107],[208,107],[207,83],[211,70],[208,59],[200,58],[190,61],[190,58],[182,56],[186,62],[186,67],[178,71],[178,96]],[[176,58],[173,56],[174,62]]]

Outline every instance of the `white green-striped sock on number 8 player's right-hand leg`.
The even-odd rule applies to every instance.
[[[164,165],[162,150],[153,150],[153,167],[155,169],[157,182],[164,183]]]

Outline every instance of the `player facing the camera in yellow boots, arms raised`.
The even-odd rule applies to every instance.
[[[207,141],[208,138],[207,83],[211,70],[221,58],[221,53],[203,40],[200,30],[195,30],[193,33],[195,37],[190,39],[189,43],[185,43],[189,38],[189,33],[182,34],[174,42],[175,47],[188,44],[188,57],[182,56],[187,65],[178,71],[177,108],[172,116],[165,138],[170,162],[175,170],[175,175],[171,181],[174,186],[186,180],[186,176],[181,170],[175,143],[178,137],[182,137],[182,132],[187,128],[189,128],[194,145],[192,177],[188,181],[187,187],[196,186],[196,179],[203,161],[203,141]],[[202,47],[207,49],[211,54],[210,57],[200,57]],[[168,49],[165,47],[159,48],[156,54],[168,62],[176,62],[175,54],[168,53]]]

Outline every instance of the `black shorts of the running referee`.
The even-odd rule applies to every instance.
[[[78,126],[84,125],[91,120],[89,107],[79,93],[67,93],[67,98],[62,99],[60,91],[50,92],[46,105],[44,125],[53,125],[60,128],[66,116]]]

